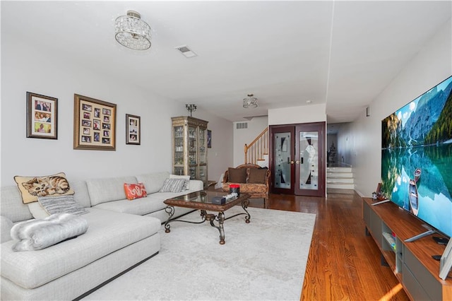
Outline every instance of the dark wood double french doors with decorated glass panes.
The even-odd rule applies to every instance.
[[[271,192],[325,196],[325,122],[270,126]]]

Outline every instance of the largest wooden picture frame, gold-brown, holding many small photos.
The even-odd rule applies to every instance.
[[[116,151],[116,105],[74,94],[73,149]]]

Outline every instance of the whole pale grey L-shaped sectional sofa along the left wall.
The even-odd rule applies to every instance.
[[[72,240],[37,251],[13,252],[13,223],[32,219],[16,186],[1,187],[1,300],[73,300],[155,256],[161,224],[167,219],[163,201],[203,189],[190,180],[189,190],[159,192],[169,172],[135,177],[88,179],[69,183],[74,198],[88,213],[88,231]],[[129,201],[124,183],[145,184],[148,196]],[[177,208],[174,217],[188,213]]]

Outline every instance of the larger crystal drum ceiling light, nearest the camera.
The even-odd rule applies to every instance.
[[[118,17],[115,28],[114,37],[119,44],[135,50],[150,48],[150,26],[136,11],[127,11],[127,16]]]

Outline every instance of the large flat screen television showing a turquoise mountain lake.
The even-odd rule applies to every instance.
[[[381,194],[452,236],[452,76],[381,121]]]

